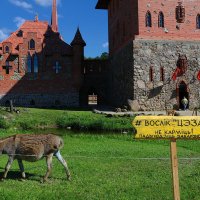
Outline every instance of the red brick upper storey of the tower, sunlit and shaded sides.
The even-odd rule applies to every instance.
[[[184,23],[176,21],[178,0],[111,0],[108,5],[110,55],[134,39],[200,40],[196,17],[199,0],[183,1]],[[152,27],[146,27],[145,16],[151,13]],[[164,28],[158,27],[158,14],[164,14]]]

